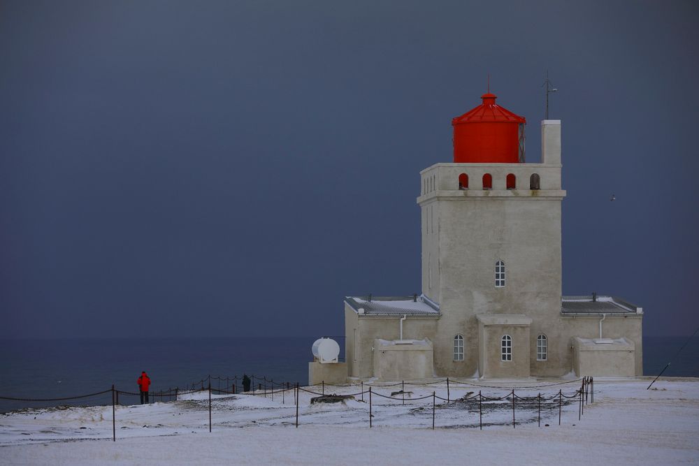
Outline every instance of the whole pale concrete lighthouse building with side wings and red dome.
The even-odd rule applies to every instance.
[[[561,296],[560,120],[524,163],[524,118],[482,99],[420,173],[421,295],[345,298],[348,376],[641,375],[640,307]]]

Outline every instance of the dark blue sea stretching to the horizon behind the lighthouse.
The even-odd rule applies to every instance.
[[[70,398],[110,391],[137,393],[142,371],[152,380],[151,391],[180,391],[209,384],[225,389],[243,374],[289,384],[308,383],[308,362],[315,337],[171,338],[1,340],[0,413],[28,407],[108,405],[111,393],[78,400],[31,401]],[[699,335],[644,337],[643,372],[663,377],[699,377]],[[344,341],[338,339],[340,347]],[[686,344],[679,354],[679,349]],[[268,382],[268,386],[271,384]],[[167,399],[167,398],[165,398]],[[120,404],[140,402],[138,396],[120,395]]]

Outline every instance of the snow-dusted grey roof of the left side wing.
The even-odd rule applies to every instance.
[[[440,316],[439,305],[424,295],[361,298],[346,296],[345,303],[354,312],[370,316]]]

